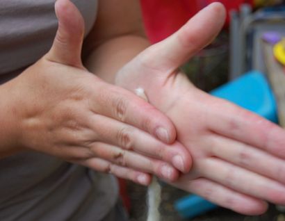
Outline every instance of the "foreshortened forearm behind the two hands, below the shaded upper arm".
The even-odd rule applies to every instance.
[[[85,65],[90,72],[113,83],[117,71],[148,46],[148,40],[139,35],[112,38],[92,50]]]

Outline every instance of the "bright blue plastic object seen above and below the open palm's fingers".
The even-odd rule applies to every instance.
[[[260,72],[249,72],[211,92],[211,95],[227,99],[277,123],[277,104],[266,77]],[[222,110],[221,110],[222,111]],[[184,218],[195,218],[218,206],[197,195],[183,197],[174,208]]]

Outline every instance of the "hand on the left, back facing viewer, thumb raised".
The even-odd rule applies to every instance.
[[[177,169],[187,172],[190,154],[174,141],[168,117],[88,72],[81,63],[83,18],[66,0],[56,2],[56,15],[50,51],[7,83],[18,145],[142,184],[150,182],[148,172],[169,181]]]

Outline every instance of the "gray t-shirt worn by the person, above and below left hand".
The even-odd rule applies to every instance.
[[[57,29],[56,0],[0,0],[0,83],[19,74],[50,49]],[[97,0],[73,0],[86,22]],[[20,107],[19,107],[20,108]],[[58,158],[24,152],[0,159],[0,220],[101,220],[117,200],[111,175]]]

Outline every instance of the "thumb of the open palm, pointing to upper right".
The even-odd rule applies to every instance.
[[[225,23],[225,15],[225,8],[221,3],[211,3],[179,31],[142,52],[138,60],[163,74],[174,72],[211,43]]]

